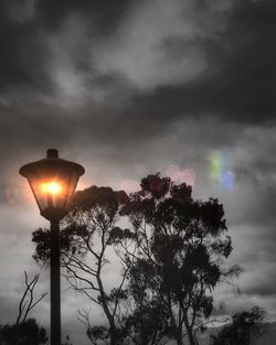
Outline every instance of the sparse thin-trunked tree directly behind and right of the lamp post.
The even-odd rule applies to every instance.
[[[106,326],[87,326],[87,336],[95,344],[109,339],[110,345],[120,344],[120,330],[116,324],[116,313],[126,273],[113,291],[103,281],[103,269],[108,263],[110,231],[119,219],[119,212],[127,200],[125,192],[110,187],[92,186],[76,192],[72,208],[61,231],[62,266],[71,287],[83,293],[91,302],[99,305],[107,319]],[[50,258],[50,231],[38,229],[33,233],[36,244],[34,259],[47,262]],[[110,252],[109,252],[110,255]],[[78,319],[84,321],[82,314]]]

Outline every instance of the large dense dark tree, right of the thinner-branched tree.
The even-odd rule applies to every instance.
[[[141,180],[141,190],[130,195],[121,215],[132,225],[129,231],[137,247],[132,251],[118,241],[118,252],[125,250],[120,257],[127,266],[132,315],[142,315],[149,301],[152,305],[159,301],[164,323],[157,323],[156,332],[173,337],[178,345],[188,336],[195,345],[195,328],[203,328],[212,314],[215,287],[241,271],[225,263],[232,246],[223,205],[215,198],[194,201],[191,186],[155,174]],[[118,238],[126,233],[115,230]],[[141,299],[136,290],[142,292]]]

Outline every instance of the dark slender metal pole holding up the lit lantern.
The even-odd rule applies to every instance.
[[[61,345],[61,268],[59,220],[51,220],[51,345]]]

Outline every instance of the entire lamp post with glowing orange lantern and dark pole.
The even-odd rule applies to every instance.
[[[60,220],[68,212],[84,168],[50,149],[45,159],[23,165],[19,173],[28,179],[40,214],[51,223],[51,345],[61,345]]]

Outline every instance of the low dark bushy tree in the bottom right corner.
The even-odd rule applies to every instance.
[[[250,345],[252,338],[262,335],[264,314],[258,306],[234,314],[232,323],[212,336],[211,345]]]

